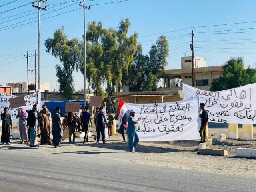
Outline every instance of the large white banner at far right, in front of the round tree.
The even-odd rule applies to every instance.
[[[205,103],[209,122],[214,123],[255,123],[256,84],[210,92],[183,84],[183,99],[198,96]]]

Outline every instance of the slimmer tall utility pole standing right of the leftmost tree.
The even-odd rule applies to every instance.
[[[79,6],[84,8],[84,107],[86,106],[86,26],[85,26],[85,9],[90,10],[90,6],[85,6],[85,0],[83,5],[79,2]]]

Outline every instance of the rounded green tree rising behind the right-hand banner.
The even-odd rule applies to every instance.
[[[244,58],[230,58],[222,66],[223,72],[218,80],[212,82],[211,91],[221,91],[256,82],[256,71],[244,66]]]

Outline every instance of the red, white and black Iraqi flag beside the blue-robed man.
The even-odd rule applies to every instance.
[[[128,123],[128,117],[130,116],[130,112],[126,105],[124,104],[124,101],[122,99],[119,100],[119,105],[118,105],[118,130],[117,132],[122,134],[124,131],[124,128],[127,127]]]

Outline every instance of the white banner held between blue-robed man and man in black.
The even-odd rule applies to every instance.
[[[200,139],[198,97],[169,103],[125,105],[135,110],[135,119],[142,117],[137,124],[140,141]]]

